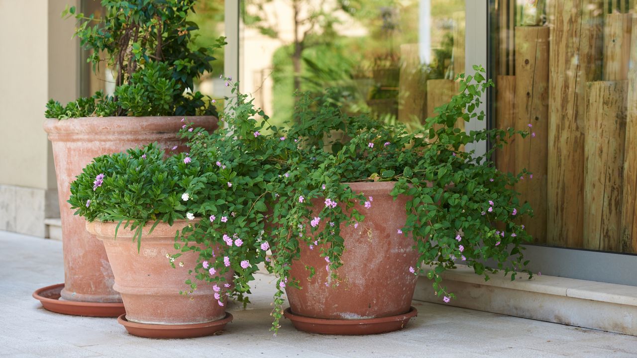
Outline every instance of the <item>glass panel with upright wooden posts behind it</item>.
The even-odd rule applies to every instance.
[[[529,132],[496,165],[533,173],[516,189],[535,243],[637,253],[635,6],[496,0],[496,126]]]

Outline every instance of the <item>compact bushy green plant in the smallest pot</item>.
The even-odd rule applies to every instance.
[[[95,158],[71,183],[71,209],[89,221],[125,223],[124,228],[135,230],[138,248],[149,222],[154,228],[159,222],[192,219],[210,199],[215,168],[187,154],[164,159],[165,153],[153,143]]]

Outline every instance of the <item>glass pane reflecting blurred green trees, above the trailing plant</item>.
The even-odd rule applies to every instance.
[[[464,8],[464,0],[245,0],[241,90],[277,124],[292,118],[296,90],[332,87],[343,110],[420,125],[464,72]]]

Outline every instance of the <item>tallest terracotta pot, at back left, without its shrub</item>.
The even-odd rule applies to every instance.
[[[62,299],[121,302],[113,290],[113,273],[104,245],[87,233],[84,218],[73,215],[70,183],[94,157],[122,152],[157,141],[161,147],[180,145],[183,117],[90,117],[48,119],[44,129],[53,145],[57,194],[62,219],[64,289]],[[215,117],[188,117],[196,127],[217,127]]]

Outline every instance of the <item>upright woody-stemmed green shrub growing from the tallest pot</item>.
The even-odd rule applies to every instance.
[[[67,8],[75,16],[75,36],[91,50],[88,61],[113,69],[115,96],[83,97],[66,106],[50,100],[48,118],[89,116],[217,115],[210,98],[192,93],[194,80],[212,71],[214,50],[225,45],[218,38],[210,47],[194,48],[187,20],[194,0],[102,0],[103,18]]]

